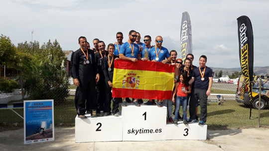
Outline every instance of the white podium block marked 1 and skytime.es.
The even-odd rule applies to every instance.
[[[123,107],[123,141],[165,140],[166,111],[156,105]]]

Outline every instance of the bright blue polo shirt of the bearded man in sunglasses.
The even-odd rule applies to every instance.
[[[126,42],[126,43],[124,43],[122,45],[122,47],[120,49],[120,54],[119,55],[124,55],[124,56],[129,57],[129,58],[136,58],[136,59],[138,59],[137,55],[139,54],[139,48],[138,48],[139,46],[136,45],[136,44],[134,44],[134,43],[133,44],[130,43],[130,44],[131,44],[132,49],[133,49],[133,45],[134,45],[134,56],[131,55],[132,54],[132,49],[131,49],[131,47],[130,47],[130,45],[129,45],[128,42]]]

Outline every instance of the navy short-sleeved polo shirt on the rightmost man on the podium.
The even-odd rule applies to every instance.
[[[204,72],[204,69],[205,68],[200,68],[202,74]],[[204,74],[204,78],[205,78],[204,80],[201,80],[202,76],[201,76],[200,70],[199,70],[199,67],[193,69],[192,77],[195,77],[194,88],[207,90],[208,85],[209,85],[209,78],[208,77],[213,77],[212,69],[209,67],[206,67],[205,74]]]

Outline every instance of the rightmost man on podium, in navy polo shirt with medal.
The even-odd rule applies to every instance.
[[[198,99],[200,100],[200,122],[198,125],[205,125],[207,118],[207,96],[210,95],[213,83],[213,72],[209,67],[206,67],[207,58],[202,55],[199,59],[199,67],[193,69],[192,78],[189,83],[194,83],[193,93],[189,102],[190,119],[188,123],[196,121],[195,107]]]

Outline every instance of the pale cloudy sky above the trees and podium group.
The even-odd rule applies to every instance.
[[[182,12],[190,15],[193,64],[207,56],[207,66],[240,68],[237,18],[251,19],[254,34],[254,66],[269,66],[269,0],[0,0],[0,34],[16,46],[21,42],[50,39],[62,50],[77,50],[78,38],[99,38],[106,45],[123,32],[124,42],[134,29],[160,35],[162,46],[180,50]],[[33,34],[32,34],[33,31]]]

